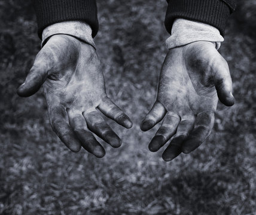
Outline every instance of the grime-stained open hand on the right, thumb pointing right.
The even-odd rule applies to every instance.
[[[234,104],[228,64],[211,42],[193,42],[170,49],[164,60],[156,103],[141,124],[150,130],[163,118],[149,144],[152,152],[172,140],[163,152],[171,161],[198,148],[211,133],[218,98]]]

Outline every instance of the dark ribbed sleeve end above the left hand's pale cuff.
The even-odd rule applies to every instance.
[[[38,36],[45,27],[60,21],[85,21],[95,37],[99,29],[96,0],[33,0],[38,23]]]

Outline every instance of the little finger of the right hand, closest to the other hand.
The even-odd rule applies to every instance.
[[[160,102],[155,102],[152,109],[141,122],[141,130],[148,131],[159,123],[164,115],[166,115],[166,109]]]

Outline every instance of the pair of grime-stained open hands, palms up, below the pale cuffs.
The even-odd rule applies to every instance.
[[[54,132],[73,152],[83,146],[98,158],[105,150],[95,133],[114,148],[121,140],[99,112],[123,127],[132,121],[106,95],[100,60],[95,48],[68,35],[54,35],[36,56],[24,84],[23,97],[43,86]],[[149,144],[170,161],[181,152],[190,153],[211,133],[218,98],[234,104],[228,64],[211,42],[193,42],[167,53],[159,78],[157,100],[141,123],[143,131],[163,122]]]

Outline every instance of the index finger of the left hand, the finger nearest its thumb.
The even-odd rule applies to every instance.
[[[66,119],[68,118],[63,106],[48,108],[48,115],[51,127],[63,143],[72,151],[79,152],[81,149],[80,140],[76,137],[74,131],[69,126]]]

